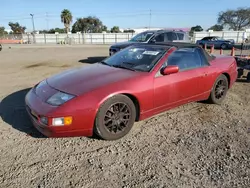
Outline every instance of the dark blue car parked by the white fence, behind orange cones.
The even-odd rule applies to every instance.
[[[197,40],[196,44],[201,45],[203,48],[206,44],[207,47],[212,47],[214,45],[214,48],[231,49],[234,46],[235,41],[233,39],[225,40],[221,37],[209,36],[204,37],[201,40]]]

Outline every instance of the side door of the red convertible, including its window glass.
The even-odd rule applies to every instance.
[[[201,94],[199,68],[194,49],[179,49],[173,52],[164,66],[177,65],[179,72],[162,76],[156,74],[154,80],[154,107],[159,109],[192,101]]]

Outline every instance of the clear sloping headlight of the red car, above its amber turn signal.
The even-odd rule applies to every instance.
[[[63,103],[73,99],[75,96],[70,95],[63,92],[57,92],[56,94],[52,95],[48,100],[47,103],[53,105],[53,106],[59,106]]]

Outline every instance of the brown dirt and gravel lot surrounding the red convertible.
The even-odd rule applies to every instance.
[[[108,55],[107,46],[0,52],[0,187],[250,187],[250,84],[223,105],[191,103],[136,123],[117,141],[42,137],[28,88]],[[95,59],[88,57],[96,57]]]

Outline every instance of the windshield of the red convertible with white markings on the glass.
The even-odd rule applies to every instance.
[[[149,72],[167,51],[160,46],[130,46],[105,59],[102,64],[131,71]]]

